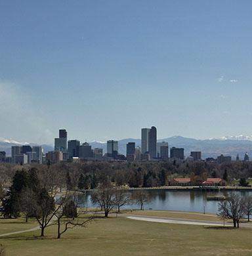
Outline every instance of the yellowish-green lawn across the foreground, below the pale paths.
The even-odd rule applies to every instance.
[[[3,220],[0,220],[2,223]],[[16,228],[20,228],[16,224]],[[21,225],[21,224],[20,224]],[[11,255],[252,255],[250,229],[149,223],[124,217],[96,219],[56,237],[56,226],[0,238]]]

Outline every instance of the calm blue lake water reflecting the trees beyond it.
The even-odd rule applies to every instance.
[[[144,205],[144,209],[169,210],[169,211],[197,211],[203,213],[217,213],[219,201],[207,200],[207,196],[227,196],[227,191],[206,192],[206,191],[188,191],[188,190],[165,190],[150,189],[150,202]],[[130,190],[130,193],[133,191]],[[83,205],[85,207],[94,206],[91,202],[91,193],[83,194]],[[235,191],[241,196],[252,196],[252,191]],[[81,196],[82,197],[82,196]],[[139,205],[125,205],[122,209],[139,209]]]

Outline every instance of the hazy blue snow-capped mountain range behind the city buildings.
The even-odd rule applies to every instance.
[[[201,151],[202,158],[213,157],[223,154],[225,156],[232,156],[236,158],[237,154],[240,155],[240,159],[243,159],[245,152],[252,158],[252,137],[239,135],[236,137],[222,137],[221,139],[206,139],[198,140],[192,138],[185,138],[181,136],[174,136],[166,139],[159,139],[158,142],[168,142],[169,148],[175,146],[184,148],[185,156],[189,156],[191,151]],[[136,146],[141,146],[140,139],[122,139],[118,141],[119,153],[126,154],[126,144],[128,142],[135,142]],[[7,152],[7,155],[11,155],[11,146],[29,144],[28,142],[18,142],[16,140],[7,140],[0,138],[0,151]],[[102,148],[106,153],[106,142],[90,142],[92,148]],[[35,145],[30,143],[30,145]],[[53,150],[52,145],[41,145],[45,152]]]

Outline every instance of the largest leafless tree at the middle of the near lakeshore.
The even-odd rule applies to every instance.
[[[109,184],[101,184],[98,189],[91,196],[94,204],[100,205],[104,210],[105,217],[108,217],[108,213],[114,209],[116,190]]]

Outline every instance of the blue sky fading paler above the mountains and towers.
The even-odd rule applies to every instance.
[[[252,1],[0,1],[0,137],[252,134]]]

